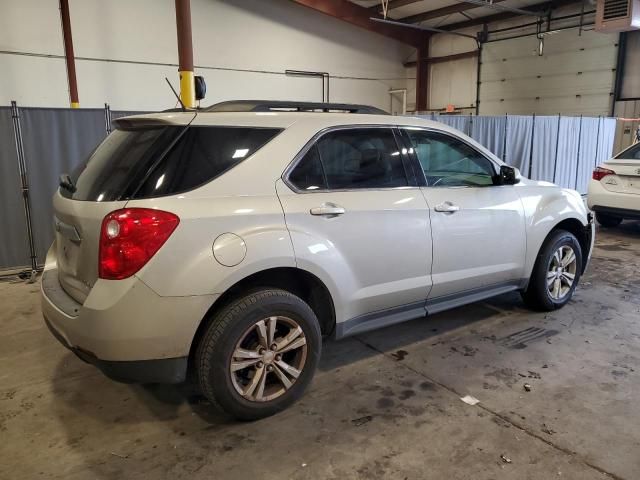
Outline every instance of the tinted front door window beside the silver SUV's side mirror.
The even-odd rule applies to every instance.
[[[427,185],[432,187],[493,185],[493,163],[455,137],[436,132],[407,130],[424,170]]]

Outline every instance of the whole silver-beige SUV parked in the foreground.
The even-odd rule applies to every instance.
[[[53,198],[52,333],[118,380],[193,371],[254,419],[302,395],[322,336],[514,290],[567,303],[594,239],[580,195],[381,113],[245,101],[117,120]]]

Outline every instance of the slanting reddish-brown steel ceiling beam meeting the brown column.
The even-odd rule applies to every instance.
[[[290,1],[414,47],[421,47],[429,39],[427,32],[412,29],[410,26],[385,25],[373,22],[370,20],[372,13],[368,8],[361,7],[348,0]]]

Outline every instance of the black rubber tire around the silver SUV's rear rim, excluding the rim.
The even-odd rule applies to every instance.
[[[285,389],[277,398],[258,402],[245,398],[236,390],[230,366],[236,345],[247,330],[256,322],[273,316],[286,317],[300,326],[306,338],[306,360],[288,390]],[[236,419],[268,417],[289,407],[302,396],[315,373],[321,348],[318,319],[303,300],[285,290],[252,291],[232,301],[210,319],[196,350],[198,384],[205,397]],[[273,383],[274,375],[268,378]]]

